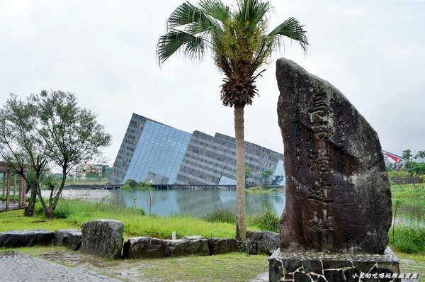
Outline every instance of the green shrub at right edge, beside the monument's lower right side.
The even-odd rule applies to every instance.
[[[388,237],[391,247],[396,251],[408,254],[425,252],[425,227],[396,226],[394,237],[392,228]]]

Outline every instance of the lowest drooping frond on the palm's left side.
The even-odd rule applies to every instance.
[[[205,52],[205,40],[200,36],[191,35],[181,30],[172,29],[162,35],[158,40],[157,56],[159,64],[165,62],[177,50],[183,48],[183,53],[188,57],[203,57]]]

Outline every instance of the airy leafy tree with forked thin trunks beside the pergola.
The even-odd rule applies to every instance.
[[[63,91],[40,91],[26,102],[11,95],[0,117],[2,157],[18,174],[30,164],[35,171],[33,188],[46,217],[53,218],[69,172],[98,156],[111,143],[111,135],[97,123],[94,113],[77,106],[74,94]],[[58,185],[50,185],[45,201],[40,179],[49,163],[61,169],[62,178]]]

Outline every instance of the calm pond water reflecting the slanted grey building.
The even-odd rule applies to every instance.
[[[48,191],[43,191],[48,196]],[[105,201],[125,206],[143,208],[149,214],[149,193],[147,191],[120,190],[64,190],[64,198],[82,199],[86,201]],[[411,199],[397,208],[396,225],[425,226],[425,211],[421,208],[421,199]],[[160,216],[193,215],[200,217],[212,210],[234,209],[235,191],[225,190],[157,190],[152,191],[151,213]],[[285,208],[285,193],[246,193],[246,213],[259,215],[272,208],[281,215]],[[393,206],[393,213],[395,207]]]

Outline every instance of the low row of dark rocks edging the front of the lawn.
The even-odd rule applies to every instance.
[[[94,220],[91,224],[93,222],[105,224],[106,220]],[[114,220],[113,222],[116,221]],[[86,226],[87,223],[84,222],[83,225]],[[120,232],[120,230],[117,232]],[[86,236],[85,232],[77,229],[56,230],[55,232],[47,230],[10,230],[0,232],[0,247],[31,247],[54,244],[57,247],[63,246],[77,251],[81,250],[81,244],[87,240]],[[206,239],[198,235],[183,236],[180,239],[132,237],[123,243],[120,251],[110,250],[117,255],[108,257],[111,257],[111,259],[162,258],[190,255],[209,256],[233,252],[272,254],[278,249],[278,238],[278,233],[268,231],[249,231],[246,233],[246,241],[244,242],[232,238]],[[86,252],[89,252],[87,248]],[[108,249],[106,249],[106,252],[108,252]],[[102,256],[98,252],[93,252],[92,254]]]

